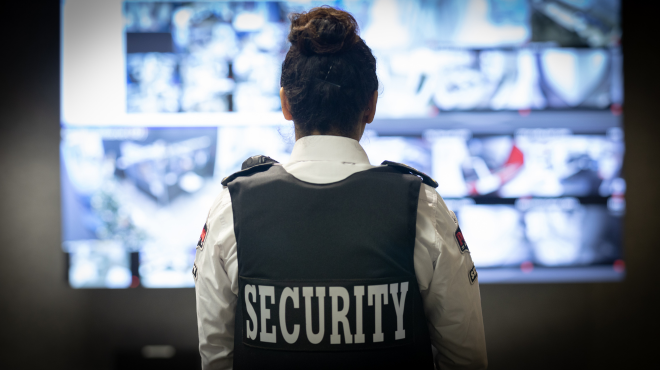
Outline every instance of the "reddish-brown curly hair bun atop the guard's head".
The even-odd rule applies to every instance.
[[[359,40],[358,24],[347,12],[322,6],[291,14],[289,41],[301,53],[334,54],[346,51]]]

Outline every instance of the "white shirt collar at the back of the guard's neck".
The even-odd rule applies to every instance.
[[[331,161],[369,164],[369,157],[360,143],[343,136],[309,135],[293,145],[289,163]]]

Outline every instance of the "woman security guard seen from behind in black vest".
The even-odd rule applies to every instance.
[[[322,7],[291,23],[291,159],[253,157],[225,178],[197,245],[203,368],[485,369],[455,215],[432,178],[373,166],[358,143],[378,82],[355,19]]]

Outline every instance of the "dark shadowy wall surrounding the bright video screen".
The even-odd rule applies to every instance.
[[[660,16],[649,3],[624,4],[627,279],[483,285],[491,369],[651,367],[660,344]],[[194,350],[192,289],[72,290],[65,283],[59,4],[10,6],[1,34],[0,368],[110,369],[120,348]]]

